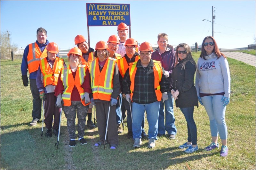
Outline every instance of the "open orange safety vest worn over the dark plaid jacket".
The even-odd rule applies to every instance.
[[[154,67],[153,67],[153,72],[154,72],[154,76],[155,76],[155,92],[156,92],[156,99],[157,101],[161,101],[162,99],[162,92],[160,91],[160,85],[159,82],[162,79],[162,75],[163,75],[163,70],[162,70],[162,65],[161,62],[159,61],[154,61]],[[130,80],[131,80],[131,86],[130,86],[130,90],[131,90],[131,100],[132,100],[132,95],[133,95],[133,90],[134,90],[134,80],[135,80],[135,74],[137,71],[137,62],[131,63],[129,65],[129,73],[130,73]]]

